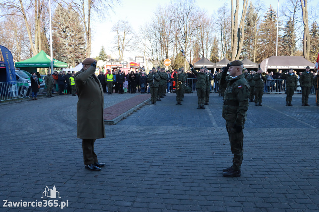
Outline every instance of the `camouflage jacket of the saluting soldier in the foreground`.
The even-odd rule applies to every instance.
[[[250,87],[244,74],[229,81],[225,90],[222,116],[226,121],[237,125],[243,125],[248,110],[248,98]]]

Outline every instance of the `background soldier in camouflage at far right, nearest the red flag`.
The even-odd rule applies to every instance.
[[[310,72],[310,67],[307,66],[306,71],[302,72],[302,74],[299,78],[299,83],[300,83],[301,93],[302,93],[301,106],[310,106],[308,104],[308,98],[309,98],[309,94],[310,94],[310,89],[314,84],[313,80],[314,80],[314,78],[312,76],[312,73]]]

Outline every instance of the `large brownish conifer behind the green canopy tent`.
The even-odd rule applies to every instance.
[[[58,5],[52,22],[54,58],[74,66],[86,53],[85,33],[79,15],[70,6]]]

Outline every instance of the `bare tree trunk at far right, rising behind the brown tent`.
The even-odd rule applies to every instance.
[[[310,53],[310,35],[309,35],[309,19],[308,19],[308,6],[307,0],[300,0],[301,9],[302,9],[302,20],[303,20],[303,41],[302,41],[302,51],[303,57],[307,60],[309,59]]]

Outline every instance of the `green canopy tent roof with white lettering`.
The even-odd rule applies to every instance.
[[[16,66],[16,68],[21,68],[21,67],[48,68],[48,67],[51,67],[51,58],[43,50],[41,50],[40,53],[33,56],[32,58],[29,58],[27,60],[23,60],[21,62],[16,62],[15,66]],[[63,63],[59,60],[53,59],[53,67],[66,68],[66,67],[68,67],[68,64]]]

